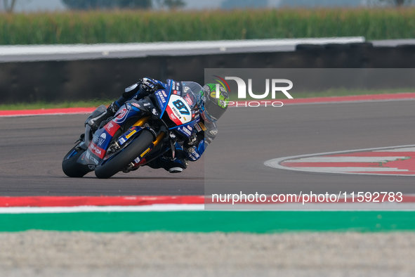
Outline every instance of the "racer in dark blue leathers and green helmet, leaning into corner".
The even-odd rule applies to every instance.
[[[131,99],[140,100],[159,89],[166,89],[166,84],[155,79],[145,77],[140,79],[136,84],[133,84],[125,89],[124,94],[117,100],[111,103],[102,114],[87,120],[86,124],[90,125],[95,131],[100,127],[100,124],[110,117],[113,117],[117,110]],[[216,98],[216,86],[218,86],[220,94]],[[208,146],[216,134],[218,129],[216,121],[228,109],[229,95],[223,86],[217,84],[206,84],[203,91],[194,91],[196,95],[195,101],[201,115],[200,122],[195,124],[193,134],[189,139],[184,141],[183,146],[176,143],[176,155],[171,157],[170,151],[164,155],[157,157],[147,163],[148,166],[158,169],[164,168],[170,173],[182,172],[186,169],[188,161],[199,160],[204,153],[206,146]]]

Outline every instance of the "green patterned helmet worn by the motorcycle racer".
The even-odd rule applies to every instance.
[[[219,87],[220,95],[216,98],[216,86]],[[202,115],[210,120],[218,120],[228,109],[229,94],[220,84],[205,84],[203,87]]]

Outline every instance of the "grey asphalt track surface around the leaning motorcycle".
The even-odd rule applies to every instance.
[[[411,176],[293,172],[263,165],[276,157],[414,144],[414,103],[230,108],[204,158],[191,162],[185,172],[143,167],[107,180],[93,173],[71,179],[61,169],[62,157],[83,131],[87,115],[1,117],[0,195],[415,193]]]

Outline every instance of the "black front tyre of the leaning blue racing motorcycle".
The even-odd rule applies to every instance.
[[[100,179],[108,179],[117,174],[124,167],[129,165],[136,157],[143,153],[152,143],[153,135],[148,130],[141,131],[140,136],[129,146],[126,146],[120,153],[115,155],[111,160],[105,162],[104,165],[95,169],[95,176]]]

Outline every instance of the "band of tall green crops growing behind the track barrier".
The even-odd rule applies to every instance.
[[[0,13],[0,44],[415,37],[415,8]]]

